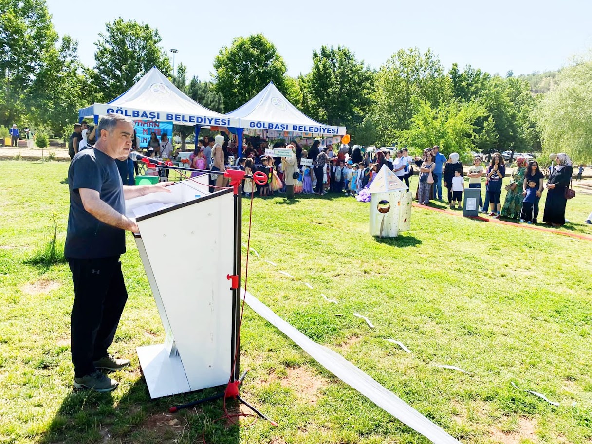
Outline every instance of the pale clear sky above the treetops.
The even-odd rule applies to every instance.
[[[47,5],[60,36],[78,40],[85,65],[94,66],[94,42],[105,22],[121,16],[158,28],[167,52],[179,50],[176,63],[188,67],[189,78],[201,80],[211,79],[221,47],[259,32],[275,44],[292,76],[310,70],[313,49],[322,44],[348,46],[376,68],[398,49],[432,48],[446,69],[456,62],[503,75],[510,69],[515,75],[558,69],[592,48],[592,2],[586,0],[102,0],[95,7],[47,0]]]

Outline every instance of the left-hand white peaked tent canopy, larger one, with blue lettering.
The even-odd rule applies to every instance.
[[[79,110],[79,118],[121,114],[136,120],[172,121],[187,126],[239,127],[237,118],[198,104],[153,66],[130,89],[107,104],[95,103]]]

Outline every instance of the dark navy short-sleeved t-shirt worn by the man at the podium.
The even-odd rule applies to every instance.
[[[70,214],[64,253],[66,258],[94,259],[126,252],[126,232],[104,224],[82,205],[79,189],[99,192],[101,200],[121,214],[126,212],[123,184],[115,159],[98,149],[79,152],[68,170]]]

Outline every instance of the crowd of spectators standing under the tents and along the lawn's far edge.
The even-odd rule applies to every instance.
[[[94,127],[86,122],[75,124],[75,130],[70,136],[70,156],[79,150],[92,146],[96,141]],[[171,141],[166,133],[157,137],[152,133],[146,147],[139,147],[134,131],[133,150],[146,149],[149,157],[176,156]],[[416,201],[429,205],[430,201],[443,202],[446,197],[450,208],[462,209],[462,195],[465,189],[465,172],[459,160],[458,153],[451,153],[448,158],[440,153],[439,146],[426,148],[422,157],[411,157],[407,149],[395,151],[391,157],[391,150],[362,153],[359,147],[350,148],[343,145],[334,149],[332,144],[321,146],[320,140],[315,140],[310,148],[304,149],[296,140],[289,144],[278,141],[273,148],[290,149],[293,156],[274,157],[265,154],[269,148],[266,141],[260,141],[256,147],[250,142],[243,144],[244,157],[237,157],[235,141],[230,137],[204,136],[198,140],[194,152],[189,156],[189,166],[194,169],[224,171],[229,162],[234,168],[240,168],[252,174],[263,172],[268,178],[265,185],[255,184],[252,179],[246,179],[243,192],[246,196],[269,196],[287,194],[288,198],[294,194],[325,195],[327,192],[355,196],[359,201],[369,201],[368,188],[375,176],[386,165],[404,184],[410,186],[410,178],[414,175],[415,165],[419,168],[419,181],[416,189]],[[509,182],[506,178],[506,161],[500,153],[490,156],[488,165],[480,156],[475,156],[469,166],[468,188],[484,188],[484,195],[479,195],[479,212],[490,217],[506,217],[523,223],[538,223],[539,202],[543,192],[547,191],[543,223],[554,226],[565,224],[565,206],[568,200],[565,191],[570,185],[574,172],[570,158],[561,153],[557,155],[555,163],[549,169],[549,176],[545,184],[545,175],[534,159],[528,161],[525,157],[517,157]],[[131,159],[118,161],[124,184],[133,185],[134,169],[138,174],[137,162]],[[581,180],[583,165],[578,167],[577,180]],[[168,176],[168,170],[166,170]],[[199,175],[194,172],[192,176]],[[483,183],[484,179],[484,183]],[[211,189],[224,186],[222,176],[210,176]],[[446,195],[443,194],[446,189]],[[501,201],[502,190],[506,189],[504,202]]]

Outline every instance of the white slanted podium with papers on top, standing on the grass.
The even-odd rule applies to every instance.
[[[238,340],[238,291],[227,275],[237,266],[240,276],[240,195],[237,203],[232,189],[210,194],[208,175],[169,189],[126,201],[166,331],[164,344],[137,348],[152,398],[227,384]]]

